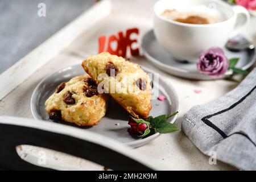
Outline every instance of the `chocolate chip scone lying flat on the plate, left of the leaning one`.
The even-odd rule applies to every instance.
[[[45,105],[49,119],[93,126],[106,114],[107,101],[106,94],[97,92],[96,82],[89,75],[82,75],[57,86]]]

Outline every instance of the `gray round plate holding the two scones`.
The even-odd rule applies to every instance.
[[[143,68],[147,73],[152,73],[150,69]],[[44,110],[44,102],[47,100],[52,93],[55,92],[56,86],[60,82],[68,81],[72,77],[85,74],[81,65],[73,65],[68,68],[63,68],[56,73],[44,78],[36,86],[32,98],[31,98],[31,111],[35,119],[45,120],[47,122],[53,122],[49,120],[46,110]],[[154,73],[153,73],[154,74]],[[159,77],[159,85],[154,84],[153,89],[159,88],[159,94],[166,96],[166,100],[152,100],[152,109],[150,115],[153,117],[161,114],[170,114],[178,110],[178,99],[174,88],[167,82],[165,82],[161,77]],[[169,119],[169,122],[174,123],[177,115]],[[115,101],[110,100],[109,109],[105,117],[101,119],[97,126],[93,127],[82,127],[84,130],[93,131],[95,133],[104,135],[105,137],[112,138],[118,142],[124,143],[131,147],[138,147],[150,142],[152,139],[158,137],[159,133],[155,133],[147,138],[133,138],[127,133],[127,119],[129,114],[119,106]],[[61,122],[65,125],[73,125],[68,122]],[[119,123],[119,124],[118,124]]]

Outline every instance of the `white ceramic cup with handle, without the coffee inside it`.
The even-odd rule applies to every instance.
[[[169,20],[161,14],[167,9],[204,5],[214,8],[224,18],[212,24],[189,24]],[[220,0],[160,0],[154,5],[154,33],[160,46],[177,60],[196,61],[210,47],[224,47],[231,36],[249,24],[250,14],[237,5]]]

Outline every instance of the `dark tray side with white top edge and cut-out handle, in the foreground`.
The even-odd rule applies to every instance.
[[[84,136],[81,137],[81,134]],[[131,148],[90,131],[53,122],[0,117],[0,168],[47,169],[20,159],[16,152],[16,146],[20,144],[64,152],[113,170],[163,169],[161,164],[154,163],[153,166],[144,156]]]

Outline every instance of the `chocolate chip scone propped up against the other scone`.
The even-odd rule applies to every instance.
[[[150,80],[139,65],[102,52],[84,60],[82,67],[133,117],[148,117],[151,110]]]

